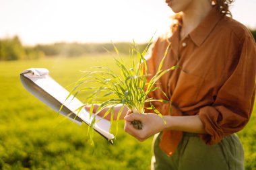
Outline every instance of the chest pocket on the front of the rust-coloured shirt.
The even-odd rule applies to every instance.
[[[197,75],[181,71],[177,86],[172,94],[172,102],[177,103],[180,108],[198,103],[198,94],[203,81],[204,79]]]

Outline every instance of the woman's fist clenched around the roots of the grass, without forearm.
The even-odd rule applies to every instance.
[[[133,120],[139,120],[142,123],[143,127],[141,130],[133,127],[131,124]],[[127,112],[127,116],[125,116],[125,132],[131,134],[131,136],[134,136],[141,142],[161,132],[165,128],[166,124],[164,124],[163,118],[157,114],[131,114],[131,112]]]

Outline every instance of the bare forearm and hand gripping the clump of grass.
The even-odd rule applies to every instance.
[[[142,129],[133,127],[131,122],[139,120],[142,123]],[[166,124],[164,123],[166,120]],[[192,132],[205,134],[203,123],[198,115],[195,116],[164,116],[164,119],[157,114],[131,114],[127,112],[125,116],[125,132],[131,134],[140,141],[146,140],[153,134],[162,130],[179,130],[183,132]]]

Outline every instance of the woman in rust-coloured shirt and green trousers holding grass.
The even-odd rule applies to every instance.
[[[247,28],[227,16],[231,2],[166,0],[177,23],[171,36],[158,38],[148,58],[154,75],[171,43],[163,69],[181,68],[158,82],[172,101],[154,103],[166,124],[149,110],[124,117],[125,131],[138,140],[156,134],[152,169],[244,169],[243,146],[234,133],[253,109],[256,50]],[[160,91],[150,97],[165,99]],[[143,129],[133,128],[133,120]]]

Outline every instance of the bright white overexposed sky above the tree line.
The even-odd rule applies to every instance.
[[[233,18],[256,29],[256,0],[236,0]],[[0,0],[0,38],[54,42],[148,42],[170,26],[164,0]]]

